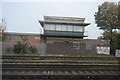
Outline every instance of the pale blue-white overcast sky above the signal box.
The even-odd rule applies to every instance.
[[[89,2],[88,2],[89,1]],[[3,0],[0,3],[0,18],[6,20],[8,32],[40,33],[38,20],[43,16],[62,16],[86,18],[86,23],[91,23],[85,28],[88,39],[96,39],[102,31],[95,24],[94,14],[98,5],[105,0]],[[118,0],[108,0],[118,1]]]

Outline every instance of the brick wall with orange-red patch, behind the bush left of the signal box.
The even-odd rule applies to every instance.
[[[14,45],[20,41],[22,42],[22,37],[26,38],[26,43],[30,43],[34,46],[38,53],[40,53],[40,36],[33,34],[24,34],[24,33],[5,33],[5,39],[2,42],[2,51],[3,53],[13,53]]]

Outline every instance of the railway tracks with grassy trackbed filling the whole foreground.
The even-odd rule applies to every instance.
[[[94,64],[92,61],[101,62],[102,58],[3,56],[2,59],[2,80],[120,80],[118,58],[103,58],[103,63]]]

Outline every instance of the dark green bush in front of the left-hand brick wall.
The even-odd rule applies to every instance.
[[[22,42],[17,42],[13,47],[13,51],[17,54],[37,53],[37,49],[31,44]]]

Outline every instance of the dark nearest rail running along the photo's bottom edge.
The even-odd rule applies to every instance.
[[[3,75],[3,80],[119,80],[116,75]]]

